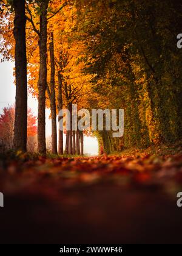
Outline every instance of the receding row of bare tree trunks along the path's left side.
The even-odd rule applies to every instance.
[[[38,80],[38,151],[46,154],[45,143],[45,91],[49,93],[50,108],[52,115],[52,153],[63,154],[63,132],[59,129],[59,147],[57,152],[57,127],[56,127],[56,99],[55,99],[55,56],[53,32],[51,33],[50,42],[50,63],[51,63],[51,79],[50,89],[47,85],[47,9],[49,0],[41,1],[41,15],[39,20],[39,31],[35,32],[39,35],[39,80]],[[16,110],[15,110],[15,150],[27,151],[27,58],[25,43],[25,1],[14,0],[15,8],[15,71],[16,71]],[[32,21],[33,23],[33,21]],[[62,62],[62,69],[67,65],[67,54]],[[58,110],[62,110],[62,75],[58,73]],[[71,98],[69,94],[70,88],[66,85],[66,98],[69,102]],[[69,103],[69,110],[72,113],[72,104]],[[21,124],[21,126],[19,126]],[[71,116],[72,127],[72,116]],[[84,136],[83,132],[75,132],[70,130],[66,135],[66,154],[83,155],[84,153]]]

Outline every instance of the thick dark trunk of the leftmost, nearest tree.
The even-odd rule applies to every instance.
[[[15,37],[15,75],[16,104],[14,148],[27,151],[27,57],[25,40],[25,1],[14,0],[15,20],[13,34]]]

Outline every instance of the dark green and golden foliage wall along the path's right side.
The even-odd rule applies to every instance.
[[[169,0],[77,2],[76,26],[87,49],[85,71],[94,76],[97,105],[108,107],[110,101],[110,108],[125,112],[124,139],[111,140],[109,146],[104,135],[106,152],[117,145],[121,150],[180,140],[182,52],[176,36],[181,31],[182,4]]]

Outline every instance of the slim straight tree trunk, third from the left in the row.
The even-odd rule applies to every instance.
[[[56,125],[56,98],[55,98],[55,54],[54,54],[54,41],[53,32],[51,32],[50,42],[50,109],[52,118],[52,154],[58,154],[57,149],[57,125]]]

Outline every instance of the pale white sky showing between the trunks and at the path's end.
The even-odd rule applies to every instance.
[[[13,62],[2,62],[0,63],[0,113],[4,107],[15,104],[15,92],[16,87],[14,84],[15,77],[13,77],[13,68],[15,63]],[[32,98],[29,94],[28,107],[32,109],[35,116],[38,113],[38,101]],[[50,110],[45,110],[46,115],[46,137],[51,136],[51,119]],[[98,154],[98,141],[96,138],[84,137],[84,154],[97,155]]]

